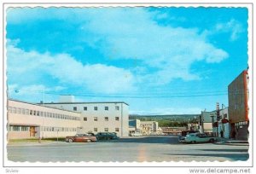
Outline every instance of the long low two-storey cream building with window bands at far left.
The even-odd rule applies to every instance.
[[[80,113],[8,100],[8,139],[73,136]]]

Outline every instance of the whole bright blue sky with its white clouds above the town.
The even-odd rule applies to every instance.
[[[131,113],[228,106],[247,68],[246,8],[7,10],[9,97],[123,101]]]

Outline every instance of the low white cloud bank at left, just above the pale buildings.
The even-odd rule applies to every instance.
[[[45,76],[57,79],[67,86],[79,86],[98,93],[119,93],[135,90],[134,77],[130,71],[102,64],[83,65],[66,54],[39,54],[37,51],[24,51],[9,44],[7,46],[7,71],[10,80],[20,84],[40,84]],[[24,81],[25,80],[25,81]],[[21,86],[22,87],[22,86]],[[26,90],[42,90],[42,85],[30,86]],[[51,90],[61,90],[63,86],[54,86]]]

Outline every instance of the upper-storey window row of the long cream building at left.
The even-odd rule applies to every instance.
[[[20,107],[8,107],[9,113],[19,113],[19,114],[25,114],[25,115],[34,115],[39,117],[48,117],[53,119],[70,119],[70,120],[80,120],[79,117],[74,117],[70,115],[65,114],[59,114],[59,113],[49,113],[49,112],[43,112],[43,111],[35,111]]]

